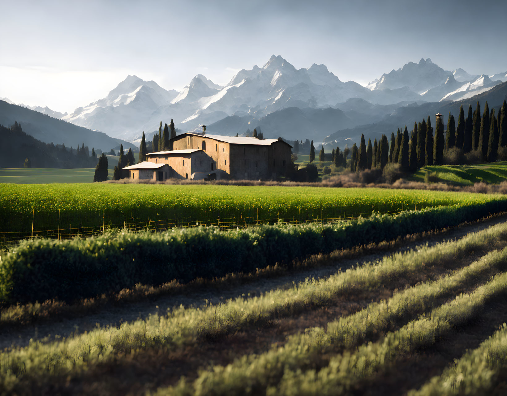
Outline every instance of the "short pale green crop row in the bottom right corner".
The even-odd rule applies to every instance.
[[[431,378],[408,396],[454,396],[491,394],[500,373],[507,368],[507,325],[481,345],[463,355],[442,375]]]

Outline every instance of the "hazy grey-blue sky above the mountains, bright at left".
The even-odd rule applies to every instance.
[[[127,74],[182,89],[226,84],[272,54],[367,84],[421,57],[507,71],[507,1],[0,0],[0,97],[72,112]]]

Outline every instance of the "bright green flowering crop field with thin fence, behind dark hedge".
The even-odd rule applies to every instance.
[[[81,227],[156,227],[173,224],[247,225],[397,213],[441,205],[506,202],[502,195],[466,192],[218,185],[5,184],[0,233]],[[84,230],[83,230],[84,231]],[[23,234],[25,237],[27,234]],[[41,233],[42,235],[42,233]]]

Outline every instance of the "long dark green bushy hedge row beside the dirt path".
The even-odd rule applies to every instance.
[[[118,292],[138,283],[250,272],[277,262],[390,241],[407,234],[458,225],[507,210],[507,201],[372,215],[324,225],[257,226],[217,231],[213,227],[161,233],[119,232],[86,240],[20,243],[2,257],[0,302],[70,301]]]

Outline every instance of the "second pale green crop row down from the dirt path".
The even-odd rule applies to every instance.
[[[374,334],[390,330],[397,323],[405,323],[405,320],[433,309],[443,298],[454,297],[464,285],[474,284],[484,274],[506,269],[506,262],[507,249],[491,252],[437,281],[408,288],[394,294],[387,301],[373,302],[363,310],[328,323],[324,328],[312,328],[303,334],[292,336],[283,347],[273,348],[260,355],[245,356],[227,367],[211,367],[202,371],[193,383],[181,381],[176,389],[171,389],[168,393],[264,394],[267,388],[279,383],[287,375],[287,370],[298,372],[302,368],[312,368],[314,365],[311,362],[318,361],[318,355],[326,350],[350,350],[357,347]],[[350,362],[359,364],[359,358],[349,358]],[[341,361],[340,364],[342,363]],[[245,383],[249,384],[249,391],[244,390]],[[320,388],[317,386],[315,389]],[[161,392],[163,393],[165,391]]]

